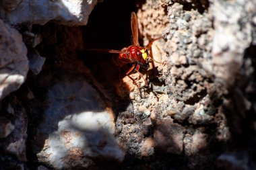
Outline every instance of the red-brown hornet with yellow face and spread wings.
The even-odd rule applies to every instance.
[[[148,52],[152,43],[162,36],[152,40],[146,47],[139,46],[138,40],[138,24],[137,24],[137,16],[135,12],[131,13],[131,32],[132,32],[132,45],[128,46],[127,48],[123,48],[122,50],[109,50],[109,49],[88,49],[97,52],[104,52],[104,53],[114,53],[119,54],[119,57],[114,60],[114,62],[119,65],[119,67],[123,67],[123,65],[133,63],[131,68],[127,71],[126,75],[135,83],[135,80],[129,76],[132,71],[137,71],[140,77],[142,77],[143,81],[145,81],[146,86],[148,86],[148,81],[144,79],[143,75],[139,72],[139,68],[142,67],[144,69],[148,69],[148,64],[154,60],[150,53]],[[154,60],[157,62],[156,60]],[[158,62],[162,63],[162,62]]]

